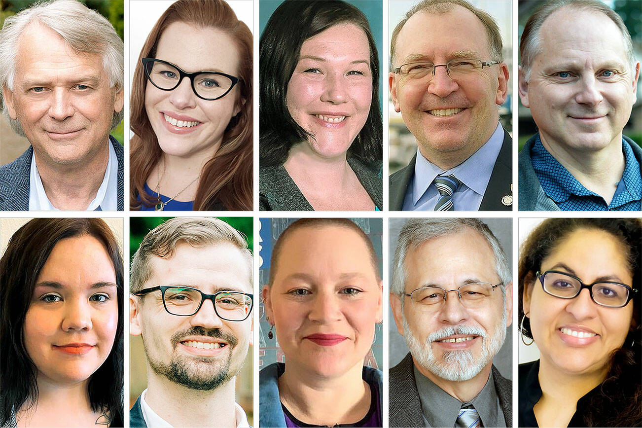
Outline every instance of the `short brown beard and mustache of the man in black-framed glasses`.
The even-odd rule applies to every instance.
[[[147,355],[147,361],[149,361],[152,370],[166,377],[171,382],[200,391],[216,389],[229,382],[238,374],[240,367],[230,372],[232,350],[238,345],[238,339],[235,336],[222,332],[220,329],[205,330],[203,327],[192,327],[176,332],[171,337],[174,351],[176,351],[178,343],[188,336],[208,336],[210,338],[222,339],[227,343],[226,347],[230,348],[229,352],[227,352],[227,357],[221,361],[221,359],[211,359],[207,357],[186,357],[186,355],[177,355],[176,352],[173,352],[169,364],[166,364],[155,361],[151,357],[147,343],[145,343],[143,337],[145,355]]]

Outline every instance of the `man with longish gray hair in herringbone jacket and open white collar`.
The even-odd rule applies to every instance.
[[[0,167],[0,210],[123,210],[123,41],[76,0],[39,3],[0,32],[0,105],[30,147]],[[6,143],[3,143],[6,144]]]

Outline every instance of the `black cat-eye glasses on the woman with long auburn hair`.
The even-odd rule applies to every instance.
[[[189,78],[192,90],[198,98],[213,101],[223,98],[241,79],[218,71],[197,71],[186,73],[171,62],[156,58],[143,58],[143,69],[152,85],[162,90],[173,90],[183,78]]]

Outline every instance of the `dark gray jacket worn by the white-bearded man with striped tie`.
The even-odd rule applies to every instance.
[[[492,375],[495,380],[495,390],[499,398],[499,406],[504,411],[504,419],[508,427],[513,422],[513,386],[512,382],[499,374],[499,370],[492,366]],[[412,355],[408,355],[390,369],[388,388],[388,417],[390,427],[423,427],[424,418],[421,412],[419,391],[415,383]]]

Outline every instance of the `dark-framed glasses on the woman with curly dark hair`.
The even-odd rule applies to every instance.
[[[612,281],[596,281],[593,284],[584,284],[574,275],[560,271],[546,271],[535,273],[542,284],[544,292],[551,296],[572,299],[580,295],[582,289],[587,288],[593,302],[605,307],[624,307],[629,304],[638,289],[626,284]]]

